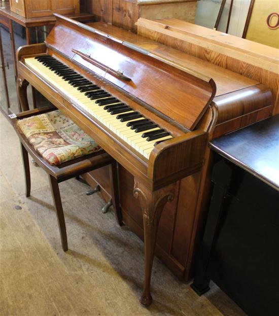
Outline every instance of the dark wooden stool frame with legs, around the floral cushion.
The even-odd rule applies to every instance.
[[[59,192],[58,184],[65,180],[79,177],[80,174],[98,169],[100,167],[110,165],[110,182],[112,190],[112,203],[114,206],[114,213],[118,224],[123,225],[122,216],[120,211],[119,203],[119,187],[118,187],[118,172],[117,172],[117,162],[104,150],[100,149],[93,153],[82,155],[78,158],[68,160],[63,163],[58,163],[57,165],[51,165],[47,160],[45,160],[30,144],[25,134],[18,126],[18,122],[25,118],[36,117],[38,115],[57,110],[53,106],[48,106],[44,108],[29,110],[21,112],[19,114],[10,115],[11,123],[19,137],[21,143],[21,153],[22,153],[22,162],[24,166],[25,173],[25,185],[26,185],[26,197],[30,196],[30,169],[29,169],[29,160],[28,153],[32,159],[43,168],[49,176],[49,183],[53,198],[53,203],[56,211],[57,222],[61,237],[61,244],[63,251],[68,250],[67,244],[67,234],[66,226],[63,214],[63,208],[61,203],[61,197]],[[55,130],[56,131],[56,130]],[[60,147],[61,148],[61,147]]]

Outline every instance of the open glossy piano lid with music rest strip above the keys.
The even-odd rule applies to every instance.
[[[45,41],[49,48],[149,104],[170,121],[194,129],[215,96],[212,79],[187,73],[133,44],[55,15],[57,22]]]

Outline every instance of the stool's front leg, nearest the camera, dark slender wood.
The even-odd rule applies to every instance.
[[[60,231],[60,238],[62,243],[63,251],[68,250],[68,242],[67,242],[67,232],[65,226],[65,219],[63,214],[63,208],[61,203],[60,191],[57,180],[49,174],[49,184],[51,188],[52,198],[54,207],[56,210],[57,222]]]

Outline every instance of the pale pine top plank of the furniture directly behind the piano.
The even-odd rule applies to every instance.
[[[275,48],[177,19],[154,21],[140,18],[136,25],[279,74],[279,52]]]

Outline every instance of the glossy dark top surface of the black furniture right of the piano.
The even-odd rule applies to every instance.
[[[210,147],[279,191],[279,115],[214,139]]]

